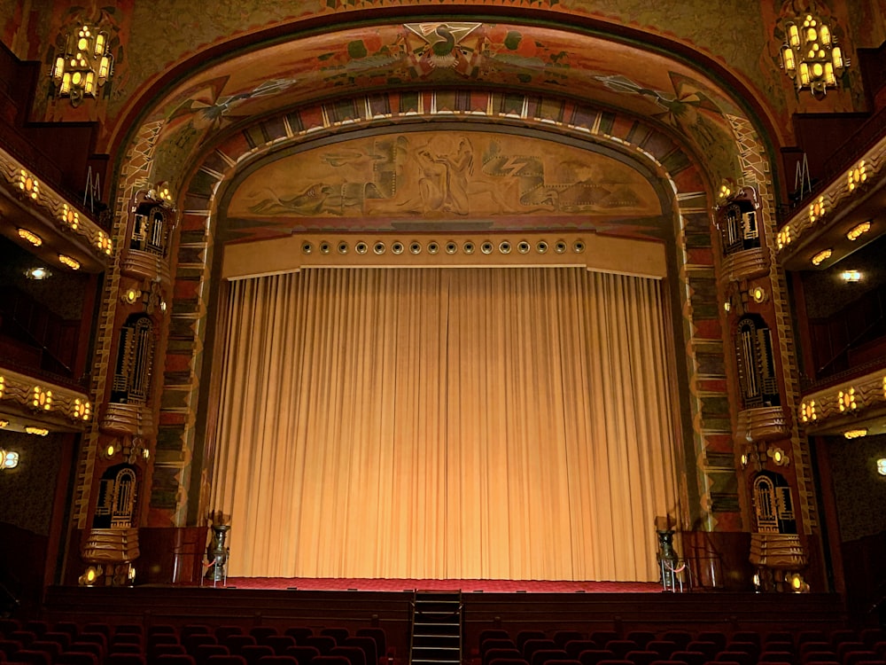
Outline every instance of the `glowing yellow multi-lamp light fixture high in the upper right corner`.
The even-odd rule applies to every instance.
[[[806,14],[802,22],[788,21],[785,28],[781,66],[794,79],[797,90],[811,90],[815,97],[824,97],[828,88],[836,88],[837,76],[843,74],[849,60],[843,58],[828,24],[812,14]]]

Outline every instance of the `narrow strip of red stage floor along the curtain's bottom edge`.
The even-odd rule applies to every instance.
[[[485,591],[486,593],[659,593],[655,582],[567,582],[544,580],[379,580],[304,577],[229,577],[236,589],[299,591]]]

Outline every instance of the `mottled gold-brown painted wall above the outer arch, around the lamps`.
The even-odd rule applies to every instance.
[[[120,57],[115,79],[106,86],[102,103],[74,109],[38,94],[31,116],[33,120],[106,121],[106,133],[98,145],[101,151],[128,129],[120,123],[139,104],[144,104],[144,90],[167,75],[173,66],[195,56],[199,59],[201,51],[232,38],[256,35],[261,39],[263,31],[276,30],[280,35],[279,28],[284,26],[290,28],[291,35],[297,35],[306,21],[323,17],[331,19],[359,11],[361,20],[365,20],[369,16],[367,10],[373,8],[422,4],[430,5],[427,0],[219,0],[206,6],[182,0],[106,0],[99,10],[95,3],[51,0],[37,12],[29,10],[30,3],[0,0],[0,7],[6,8],[0,12],[0,30],[4,43],[19,58],[42,61],[48,66],[51,59],[47,48],[56,43],[72,12],[91,20],[101,14],[117,17]],[[789,136],[789,118],[795,111],[863,111],[866,107],[860,74],[853,68],[845,75],[844,83],[849,89],[835,91],[822,100],[798,95],[781,72],[780,21],[786,15],[805,12],[809,5],[805,0],[753,5],[736,0],[663,0],[654,4],[614,0],[605,7],[595,0],[439,0],[431,6],[439,5],[447,5],[447,13],[452,11],[448,5],[461,6],[464,16],[479,11],[503,17],[512,8],[524,13],[537,10],[537,16],[545,22],[559,20],[569,26],[578,18],[590,21],[588,25],[602,32],[607,31],[607,26],[628,27],[680,43],[690,51],[718,60],[747,83],[750,94],[767,107],[781,138]],[[814,6],[833,18],[835,35],[843,39],[844,51],[850,58],[854,58],[858,48],[877,47],[886,38],[886,23],[882,20],[886,16],[886,0],[817,0]],[[641,51],[636,51],[635,57],[644,58]]]

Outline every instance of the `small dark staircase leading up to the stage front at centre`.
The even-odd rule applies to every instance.
[[[462,592],[416,591],[412,604],[413,665],[462,661]]]

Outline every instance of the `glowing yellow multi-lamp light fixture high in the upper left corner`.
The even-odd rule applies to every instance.
[[[52,80],[59,97],[80,106],[83,98],[96,96],[113,74],[113,56],[107,52],[108,35],[84,23],[67,35],[65,51],[52,66]]]

